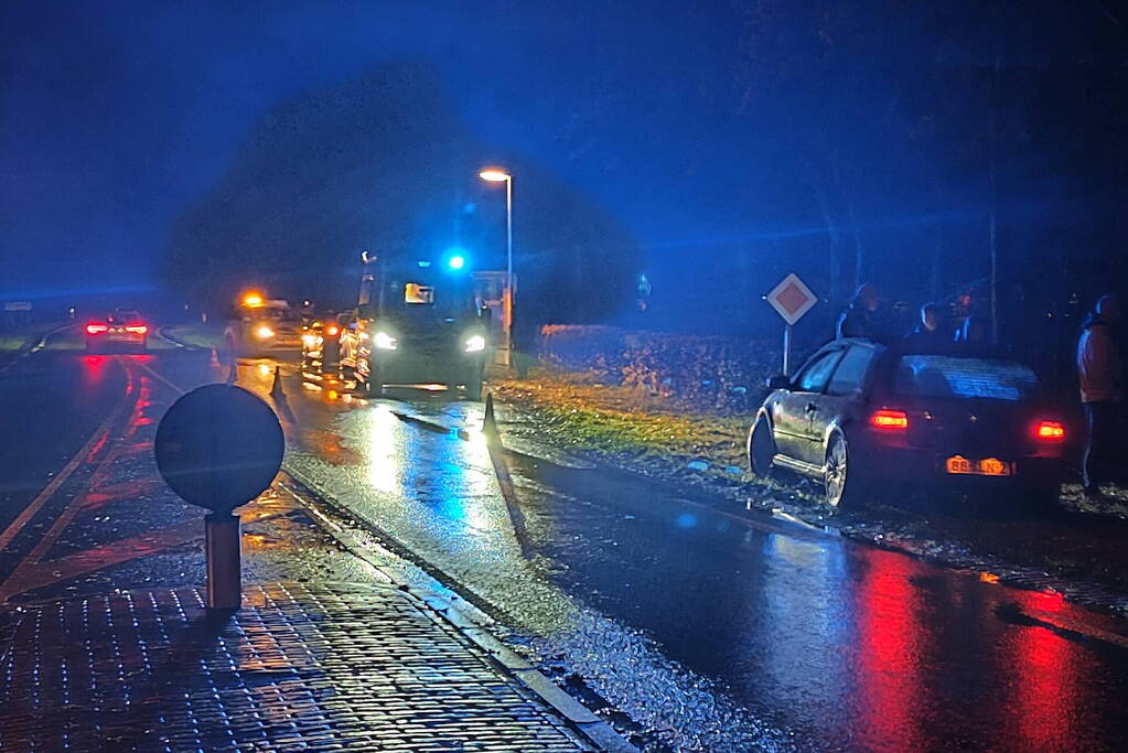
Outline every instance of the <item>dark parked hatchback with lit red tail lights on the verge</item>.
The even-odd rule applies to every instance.
[[[758,476],[818,478],[832,506],[909,484],[1057,504],[1067,431],[1025,364],[839,339],[768,386],[748,435]]]

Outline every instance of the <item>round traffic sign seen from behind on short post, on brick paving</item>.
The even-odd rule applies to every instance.
[[[157,468],[204,519],[208,609],[243,603],[241,526],[232,511],[262,494],[282,467],[285,438],[270,406],[233,384],[183,396],[157,427]]]

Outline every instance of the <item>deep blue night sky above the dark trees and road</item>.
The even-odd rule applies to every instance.
[[[1122,170],[1093,166],[1107,147],[1096,160],[1073,144],[1122,144],[1125,108],[1070,121],[1081,89],[1057,74],[1122,70],[1125,25],[1101,2],[669,5],[6,3],[0,299],[160,284],[170,228],[265,113],[399,62],[438,71],[495,147],[483,161],[535,160],[636,239],[656,277],[737,271],[758,295],[810,268],[827,286],[828,224],[847,220],[863,275],[925,275],[943,237],[973,277],[996,60],[1003,224],[1046,236],[1038,223],[1083,206],[1087,245],[1116,236],[1091,197],[1122,195],[1109,186]],[[1052,89],[1040,71],[1061,99],[1031,95]]]

